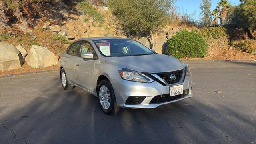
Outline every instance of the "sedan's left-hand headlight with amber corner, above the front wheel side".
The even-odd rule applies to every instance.
[[[134,81],[134,82],[145,82],[145,83],[150,83],[150,82],[154,81],[151,78],[149,78],[148,76],[146,76],[140,72],[128,70],[125,68],[123,68],[123,70],[118,70],[118,73],[124,80],[130,80],[130,81]]]

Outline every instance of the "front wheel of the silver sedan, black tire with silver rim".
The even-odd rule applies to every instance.
[[[104,89],[104,88],[107,88],[107,89]],[[106,90],[106,92],[104,92],[104,90]],[[104,93],[105,95],[102,93]],[[100,82],[100,84],[98,85],[97,94],[98,94],[98,101],[100,104],[100,108],[105,114],[112,115],[112,114],[118,113],[120,108],[116,104],[114,89],[108,80],[102,80]],[[104,99],[104,96],[105,96],[105,99]]]

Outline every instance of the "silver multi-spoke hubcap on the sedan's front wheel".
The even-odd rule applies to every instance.
[[[100,97],[100,104],[101,106],[106,110],[110,106],[110,93],[108,88],[105,85],[102,85],[100,87],[100,92],[99,92],[99,97]]]

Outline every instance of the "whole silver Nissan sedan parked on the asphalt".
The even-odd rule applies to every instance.
[[[127,38],[82,38],[59,59],[65,90],[97,96],[106,114],[123,108],[156,108],[193,96],[187,64]]]

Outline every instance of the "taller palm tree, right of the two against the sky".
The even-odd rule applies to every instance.
[[[227,11],[229,9],[230,3],[228,2],[228,0],[220,0],[220,2],[218,2],[217,8],[220,11],[220,20],[221,20],[221,25],[224,24],[224,20],[226,19],[227,16]]]

